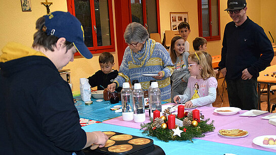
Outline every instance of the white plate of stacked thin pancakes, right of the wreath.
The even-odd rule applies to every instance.
[[[221,129],[219,130],[218,134],[228,138],[240,138],[248,136],[248,132],[241,129]]]

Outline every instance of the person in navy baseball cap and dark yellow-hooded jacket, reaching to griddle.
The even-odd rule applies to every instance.
[[[78,51],[92,54],[83,27],[66,12],[36,21],[32,48],[8,43],[0,56],[0,145],[2,154],[82,154],[92,143],[105,145],[100,131],[85,132],[70,86],[58,70]]]

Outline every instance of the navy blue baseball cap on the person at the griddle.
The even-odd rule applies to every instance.
[[[72,42],[76,50],[85,58],[91,59],[93,55],[84,42],[84,29],[80,21],[69,12],[56,11],[45,15],[47,35],[64,37]]]

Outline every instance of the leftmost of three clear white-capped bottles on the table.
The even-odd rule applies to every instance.
[[[121,90],[121,99],[123,120],[133,120],[132,90],[128,82],[123,83],[123,89]]]

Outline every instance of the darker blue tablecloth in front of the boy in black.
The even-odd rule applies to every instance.
[[[78,111],[78,115],[80,118],[95,120],[95,121],[105,121],[108,119],[112,119],[115,117],[122,116],[122,113],[115,113],[111,111],[110,108],[114,107],[115,105],[122,105],[121,101],[117,104],[110,104],[110,101],[103,100],[101,102],[97,102],[95,98],[91,98],[93,104],[85,105],[85,102],[82,101],[81,96],[74,96],[77,100],[75,107]],[[162,104],[166,104],[167,102],[162,101]]]

